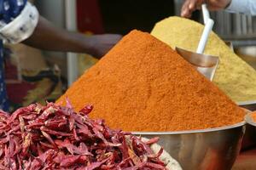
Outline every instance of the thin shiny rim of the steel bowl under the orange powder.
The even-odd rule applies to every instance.
[[[168,132],[131,132],[132,134],[142,134],[142,135],[168,135],[168,134],[189,134],[189,133],[210,133],[210,132],[217,132],[223,130],[229,130],[231,128],[242,127],[246,125],[246,122],[238,122],[233,125],[224,126],[224,127],[214,127],[214,128],[205,128],[205,129],[198,129],[198,130],[184,130],[184,131],[168,131]]]

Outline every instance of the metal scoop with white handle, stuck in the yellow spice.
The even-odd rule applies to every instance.
[[[206,6],[204,6],[204,4],[202,5],[202,10],[203,10],[204,22],[206,23],[206,25],[201,34],[201,39],[198,44],[196,53],[188,51],[183,48],[176,48],[176,51],[178,54],[183,56],[183,59],[186,59],[187,61],[189,61],[190,64],[195,65],[197,71],[200,71],[201,74],[203,74],[205,77],[207,77],[209,80],[212,81],[215,71],[218,67],[218,57],[203,54],[203,52],[206,48],[207,40],[208,40],[209,34],[212,31],[212,26],[214,24],[214,21],[210,19],[209,12]]]

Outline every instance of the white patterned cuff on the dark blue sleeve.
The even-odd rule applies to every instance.
[[[38,25],[38,9],[26,3],[21,13],[8,25],[0,29],[0,37],[4,43],[19,43],[30,37]]]

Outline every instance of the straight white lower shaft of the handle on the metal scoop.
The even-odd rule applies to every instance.
[[[205,47],[207,45],[207,40],[208,40],[209,34],[212,31],[213,24],[214,24],[214,21],[212,19],[207,20],[207,25],[204,28],[204,31],[201,35],[200,42],[198,44],[198,48],[196,50],[197,54],[203,54],[203,52],[205,51]]]

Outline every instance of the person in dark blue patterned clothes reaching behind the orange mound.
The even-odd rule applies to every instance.
[[[34,48],[101,58],[120,38],[116,34],[84,36],[55,28],[27,0],[0,0],[0,109],[9,110],[3,74],[3,43],[22,42]]]

